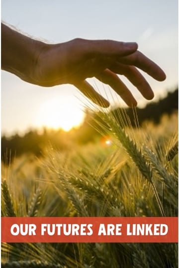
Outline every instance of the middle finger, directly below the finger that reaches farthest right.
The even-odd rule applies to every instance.
[[[147,100],[152,100],[154,98],[154,93],[149,83],[134,66],[115,63],[110,66],[110,70],[114,73],[124,75]]]

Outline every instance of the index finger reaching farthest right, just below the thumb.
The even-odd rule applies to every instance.
[[[164,81],[166,79],[166,74],[164,71],[140,51],[136,51],[131,55],[121,57],[118,59],[118,62],[127,65],[134,65],[158,81]]]

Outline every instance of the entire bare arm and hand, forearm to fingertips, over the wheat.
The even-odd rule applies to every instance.
[[[81,38],[46,44],[1,23],[3,70],[43,87],[72,84],[105,108],[109,102],[92,88],[87,78],[95,77],[111,86],[130,107],[136,106],[137,101],[118,75],[124,75],[147,100],[151,100],[154,93],[138,69],[158,81],[166,79],[164,71],[137,49],[135,42]]]

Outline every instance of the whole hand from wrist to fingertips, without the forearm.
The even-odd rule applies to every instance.
[[[154,97],[150,85],[136,67],[158,81],[166,79],[157,64],[137,51],[136,43],[77,38],[61,44],[44,44],[33,68],[32,82],[45,87],[73,84],[95,104],[108,107],[109,102],[85,80],[95,77],[110,85],[131,107],[137,102],[117,74],[128,78],[147,100]]]

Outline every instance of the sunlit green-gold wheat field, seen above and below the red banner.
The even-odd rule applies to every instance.
[[[161,124],[124,127],[99,112],[111,140],[46,148],[41,159],[2,165],[2,215],[50,217],[178,216],[177,115]],[[124,119],[123,119],[124,118]],[[2,267],[176,268],[174,243],[2,244]],[[32,265],[33,263],[33,265]]]

